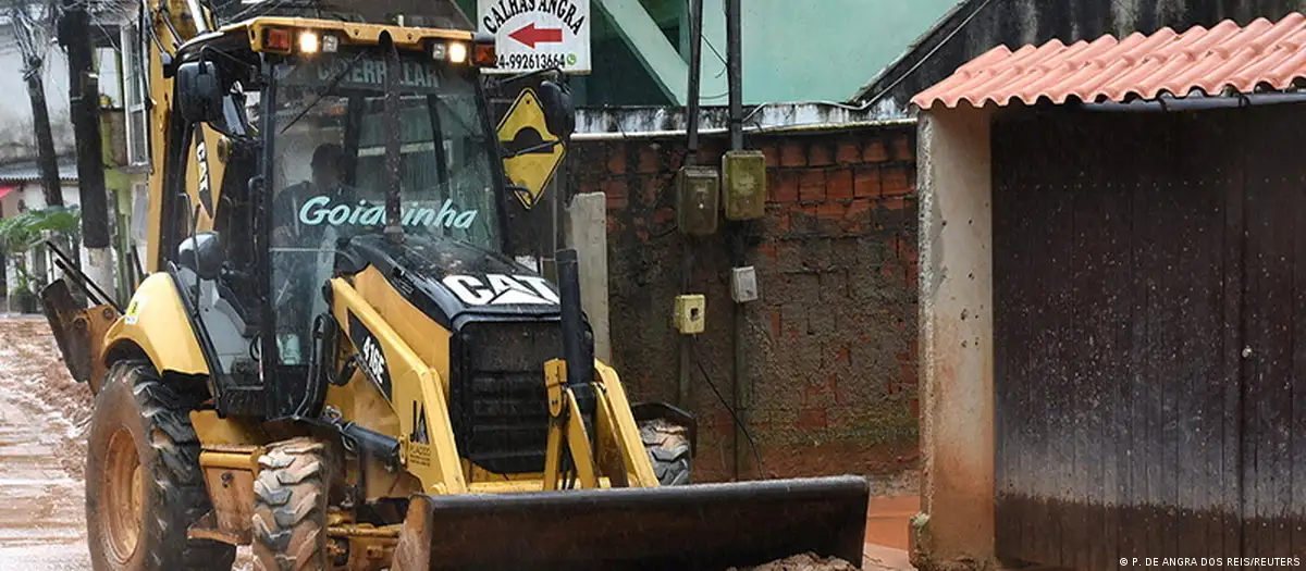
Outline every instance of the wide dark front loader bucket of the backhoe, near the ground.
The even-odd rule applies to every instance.
[[[862,563],[862,477],[414,495],[396,571],[725,570],[812,551]]]

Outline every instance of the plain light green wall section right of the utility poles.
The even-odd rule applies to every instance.
[[[957,0],[742,4],[744,103],[845,102],[905,53]],[[724,43],[722,33],[717,46],[724,48]]]

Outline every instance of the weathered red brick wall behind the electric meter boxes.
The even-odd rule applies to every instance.
[[[671,304],[682,258],[708,297],[688,408],[699,415],[699,481],[734,469],[735,340],[727,236],[747,242],[761,299],[739,308],[751,381],[748,430],[771,477],[887,473],[917,458],[914,129],[750,137],[767,155],[763,220],[686,240],[675,231],[682,139],[573,143],[573,192],[609,210],[613,361],[635,399],[677,402]],[[707,138],[700,163],[720,164]],[[747,446],[747,445],[746,445]],[[756,472],[748,452],[743,477]]]

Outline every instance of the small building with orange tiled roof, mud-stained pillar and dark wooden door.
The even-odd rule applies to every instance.
[[[913,562],[1298,567],[1306,3],[1040,4],[867,91],[918,117]]]

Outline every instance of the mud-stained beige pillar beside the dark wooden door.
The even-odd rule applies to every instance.
[[[923,112],[917,158],[921,253],[921,481],[913,563],[994,562],[993,173],[990,113]]]

